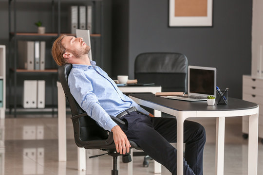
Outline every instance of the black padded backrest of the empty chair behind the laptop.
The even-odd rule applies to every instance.
[[[182,53],[141,53],[135,59],[139,83],[155,83],[163,92],[187,91],[188,60]]]

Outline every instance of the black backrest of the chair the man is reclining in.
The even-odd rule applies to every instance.
[[[72,116],[74,117],[81,114],[83,115],[78,118],[78,123],[76,123],[79,128],[75,127],[74,125],[74,132],[79,133],[77,134],[78,136],[75,135],[75,142],[78,146],[80,146],[79,144],[81,141],[105,140],[108,138],[108,132],[103,128],[99,127],[97,123],[87,115],[87,113],[77,104],[70,92],[70,88],[68,86],[68,76],[71,69],[71,64],[62,65],[58,69],[58,76],[66,98],[69,102]]]

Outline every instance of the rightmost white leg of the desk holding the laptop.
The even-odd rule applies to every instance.
[[[248,175],[258,173],[258,114],[249,116],[248,127]]]

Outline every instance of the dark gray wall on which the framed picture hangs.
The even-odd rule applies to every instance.
[[[140,53],[178,52],[188,57],[189,65],[216,67],[217,85],[228,87],[230,97],[242,98],[242,75],[251,72],[251,0],[213,0],[212,27],[169,27],[169,0],[125,1],[129,70],[122,74],[133,78]]]

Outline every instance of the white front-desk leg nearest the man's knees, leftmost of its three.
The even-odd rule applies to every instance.
[[[184,174],[184,117],[179,116],[177,120],[177,175]]]

